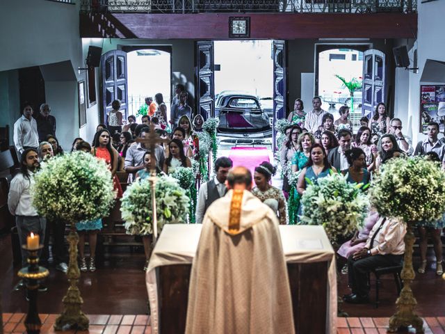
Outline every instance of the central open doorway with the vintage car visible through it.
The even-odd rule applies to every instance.
[[[223,141],[252,143],[272,137],[272,47],[272,40],[214,42],[215,116]]]

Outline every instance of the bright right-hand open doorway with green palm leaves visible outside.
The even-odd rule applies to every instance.
[[[362,118],[362,80],[363,80],[363,51],[345,47],[329,47],[323,45],[324,50],[317,53],[317,86],[318,95],[323,102],[322,108],[340,117],[339,108],[343,105],[350,107],[350,120],[353,127],[360,125]],[[366,49],[367,47],[365,47]],[[351,89],[348,89],[348,86]],[[353,87],[356,89],[354,90]]]

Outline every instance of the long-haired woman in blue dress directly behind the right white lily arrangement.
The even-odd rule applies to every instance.
[[[311,180],[312,183],[318,182],[318,179],[330,175],[330,173],[337,173],[337,170],[331,166],[327,161],[327,154],[325,148],[321,144],[314,144],[309,152],[309,161],[307,161],[306,167],[302,169],[300,176],[298,177],[297,191],[302,196],[307,187],[307,180]],[[298,215],[302,214],[302,205],[298,209]]]

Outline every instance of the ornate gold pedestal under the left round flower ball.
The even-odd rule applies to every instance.
[[[70,282],[67,294],[63,297],[64,310],[56,319],[54,329],[56,331],[65,331],[69,328],[76,328],[79,331],[88,330],[89,320],[81,310],[83,299],[77,283],[80,278],[79,266],[77,265],[77,244],[79,235],[77,234],[74,223],[71,223],[70,234],[67,241],[70,243],[70,264],[68,265],[67,278]]]

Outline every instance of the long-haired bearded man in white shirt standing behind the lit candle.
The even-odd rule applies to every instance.
[[[8,194],[9,211],[15,216],[20,245],[26,244],[26,237],[31,232],[40,236],[44,241],[44,232],[47,221],[39,216],[32,204],[31,187],[34,184],[34,174],[40,168],[37,150],[27,148],[24,150],[20,162],[20,173],[15,175],[10,184]],[[26,266],[27,251],[22,250],[22,266]],[[39,251],[40,256],[41,251]]]

